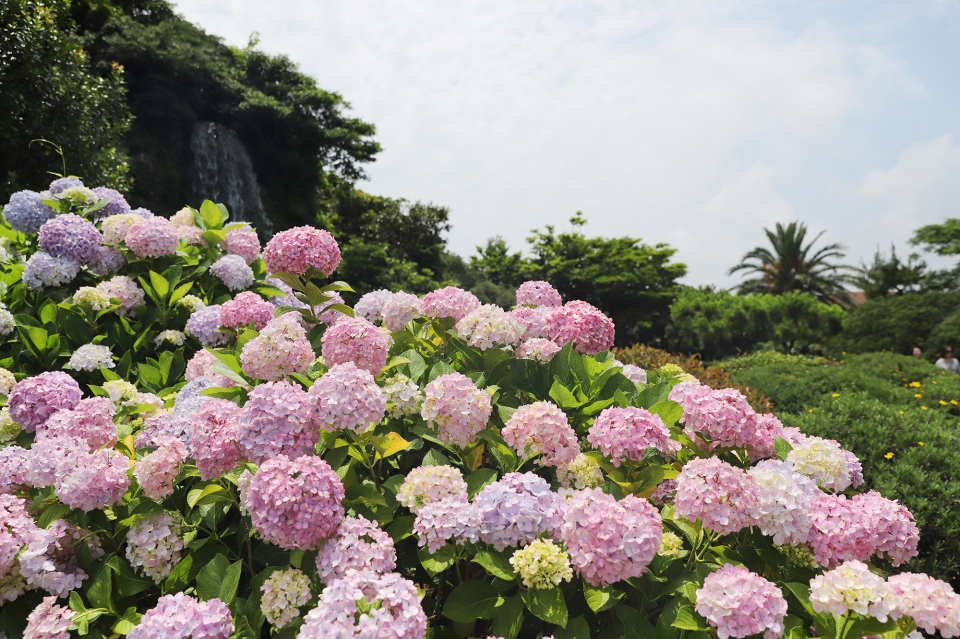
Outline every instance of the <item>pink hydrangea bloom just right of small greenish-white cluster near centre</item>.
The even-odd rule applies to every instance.
[[[461,373],[440,375],[424,389],[420,414],[444,444],[466,448],[487,427],[490,396]]]

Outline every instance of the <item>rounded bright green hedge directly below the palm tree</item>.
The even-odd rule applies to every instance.
[[[844,311],[810,293],[731,295],[685,288],[670,305],[667,339],[676,350],[713,360],[769,343],[785,352],[822,350],[840,330]]]

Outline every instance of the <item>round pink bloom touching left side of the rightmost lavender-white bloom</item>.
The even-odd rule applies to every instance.
[[[674,507],[678,515],[723,534],[752,526],[760,516],[756,483],[717,457],[687,462],[677,477]]]

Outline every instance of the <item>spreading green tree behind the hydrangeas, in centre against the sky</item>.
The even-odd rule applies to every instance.
[[[579,213],[570,221],[576,229],[586,224]],[[535,231],[528,242],[531,256],[525,258],[510,254],[502,238],[492,238],[471,264],[496,284],[545,280],[564,300],[593,304],[613,319],[618,345],[660,342],[680,292],[677,280],[687,272],[686,265],[670,262],[676,249],[632,237],[557,233],[553,226]]]

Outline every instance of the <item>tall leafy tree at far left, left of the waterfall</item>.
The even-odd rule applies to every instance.
[[[91,70],[66,0],[0,3],[0,200],[43,190],[50,172],[126,189],[123,137],[130,126],[123,69]],[[62,148],[64,170],[50,140]]]

